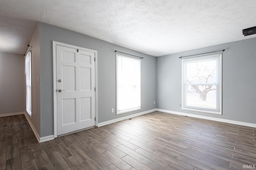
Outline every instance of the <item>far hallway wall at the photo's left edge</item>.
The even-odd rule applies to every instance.
[[[24,56],[0,53],[0,115],[25,111]]]

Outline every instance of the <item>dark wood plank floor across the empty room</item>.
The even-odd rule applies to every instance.
[[[38,143],[24,115],[0,117],[0,169],[211,170],[256,164],[256,128],[154,111]]]

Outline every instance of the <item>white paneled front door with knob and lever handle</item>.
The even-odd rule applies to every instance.
[[[94,53],[56,45],[58,135],[95,126]]]

